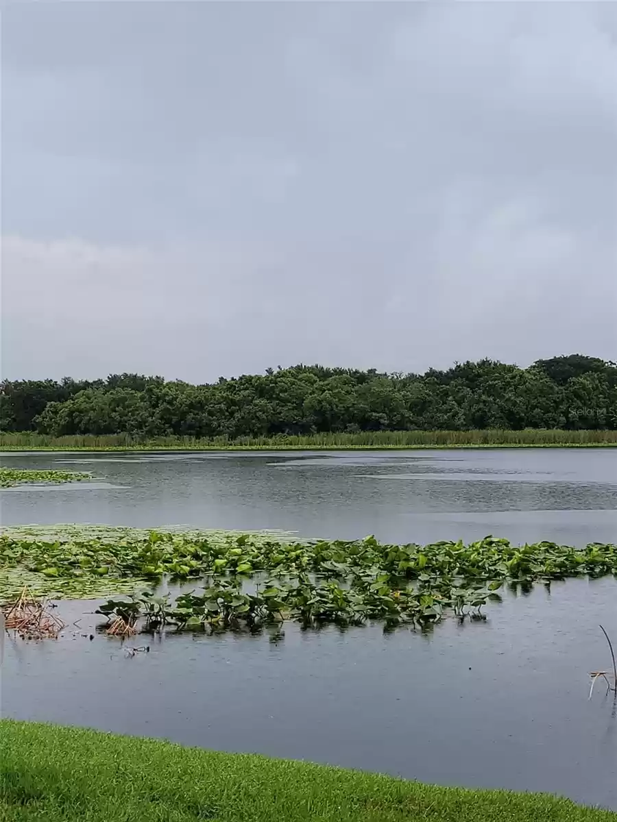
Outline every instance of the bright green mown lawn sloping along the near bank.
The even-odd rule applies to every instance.
[[[0,819],[7,822],[617,820],[542,794],[434,787],[6,719],[0,743]]]

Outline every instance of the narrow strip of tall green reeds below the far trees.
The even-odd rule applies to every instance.
[[[617,431],[560,429],[477,431],[380,431],[321,433],[306,436],[225,437],[123,434],[46,436],[31,432],[0,433],[0,450],[411,450],[425,448],[590,448],[617,447]]]

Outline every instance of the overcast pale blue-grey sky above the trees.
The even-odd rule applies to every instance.
[[[2,376],[617,358],[617,3],[2,13]]]

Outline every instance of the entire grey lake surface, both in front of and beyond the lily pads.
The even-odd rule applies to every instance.
[[[95,472],[93,487],[11,489],[2,522],[284,528],[397,541],[617,538],[617,454],[12,455]],[[7,643],[2,713],[254,750],[427,782],[564,794],[617,810],[610,664],[617,583],[570,580],[433,635],[377,626],[261,637],[168,636],[126,658],[90,642],[93,603],[61,603],[57,643]],[[73,637],[73,631],[77,636]],[[135,644],[141,644],[137,640]],[[118,698],[118,695],[122,695]]]

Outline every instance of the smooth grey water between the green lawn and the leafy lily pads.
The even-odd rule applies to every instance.
[[[93,603],[60,603],[62,639],[7,642],[2,710],[617,810],[617,709],[600,683],[587,699],[589,672],[610,664],[598,624],[615,635],[615,592],[612,579],[536,586],[485,623],[429,634],[139,635],[128,644],[150,653],[132,657],[87,638]]]

